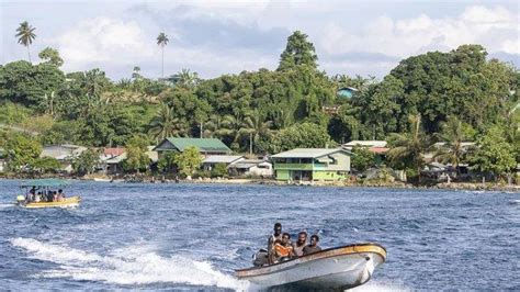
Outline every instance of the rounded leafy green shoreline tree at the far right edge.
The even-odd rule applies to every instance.
[[[494,126],[477,139],[477,148],[470,155],[473,168],[502,177],[517,167],[515,149],[507,143],[504,131]]]

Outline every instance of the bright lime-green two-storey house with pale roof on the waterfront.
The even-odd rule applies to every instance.
[[[296,148],[271,156],[276,180],[340,180],[352,153],[343,148]]]

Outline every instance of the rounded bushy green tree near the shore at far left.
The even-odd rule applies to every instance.
[[[42,145],[25,134],[12,134],[5,142],[8,167],[11,170],[24,170],[33,167],[42,153]]]

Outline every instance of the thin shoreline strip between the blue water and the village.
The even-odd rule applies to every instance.
[[[263,186],[279,186],[279,187],[337,187],[337,188],[392,188],[392,189],[425,189],[425,190],[461,190],[461,191],[509,191],[520,192],[520,186],[511,184],[505,186],[499,183],[487,182],[485,184],[478,182],[441,182],[431,186],[415,186],[406,182],[352,182],[352,181],[301,181],[301,182],[286,182],[278,181],[273,179],[244,179],[244,178],[216,178],[216,179],[183,179],[176,181],[174,179],[157,179],[156,177],[143,177],[142,180],[125,181],[123,178],[111,179],[110,177],[100,176],[87,176],[87,177],[74,177],[74,176],[44,176],[39,178],[56,178],[56,179],[70,179],[80,181],[98,181],[98,182],[114,182],[114,183],[199,183],[199,184],[263,184]],[[27,180],[38,179],[30,177],[0,177],[2,180]]]

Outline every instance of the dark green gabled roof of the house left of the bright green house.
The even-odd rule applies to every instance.
[[[222,141],[216,138],[177,138],[163,139],[154,150],[159,153],[159,157],[167,151],[184,151],[189,147],[195,147],[202,155],[228,155],[231,153]]]

